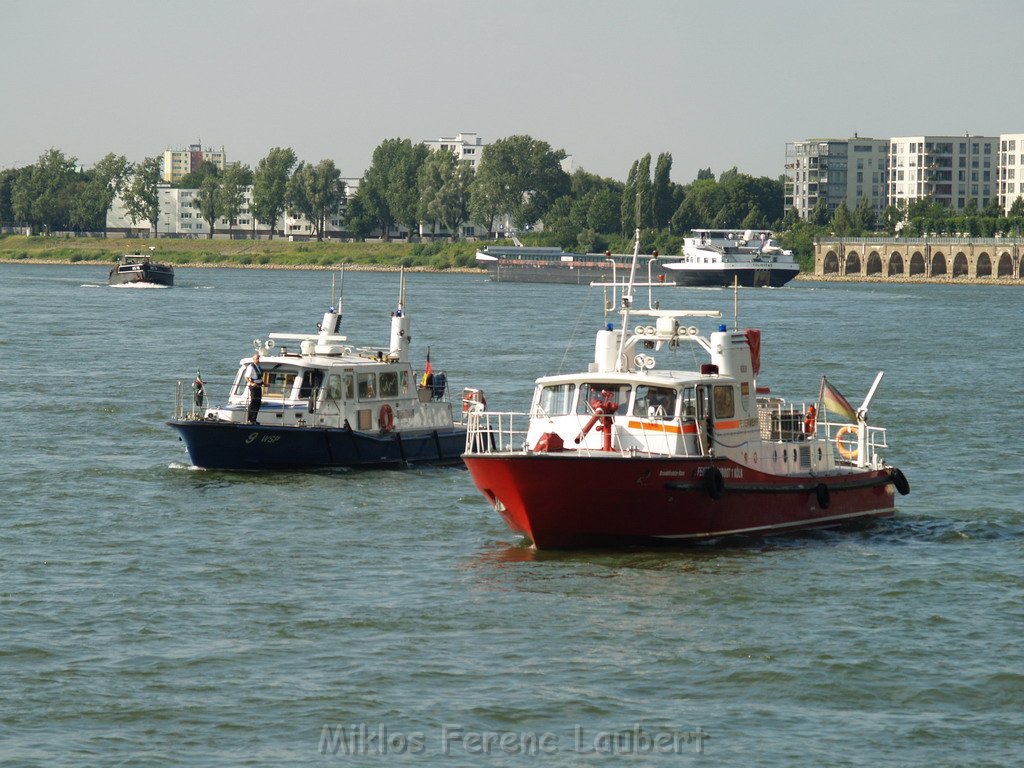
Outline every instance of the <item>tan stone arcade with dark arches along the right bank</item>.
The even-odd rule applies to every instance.
[[[822,278],[1024,282],[1022,238],[843,238],[814,244]]]

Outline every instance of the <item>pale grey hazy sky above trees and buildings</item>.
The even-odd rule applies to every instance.
[[[202,141],[360,176],[385,138],[543,139],[625,179],[819,136],[1024,132],[1020,0],[0,0],[0,168]]]

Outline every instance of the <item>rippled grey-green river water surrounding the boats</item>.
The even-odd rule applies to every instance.
[[[312,331],[329,273],[104,281],[0,265],[0,764],[1019,764],[1019,289],[740,292],[773,392],[825,374],[856,406],[885,370],[894,519],[535,553],[462,469],[188,467],[174,382],[221,401],[254,338]],[[386,342],[397,282],[345,275],[353,341]],[[591,359],[600,301],[414,274],[414,352],[518,410]]]

